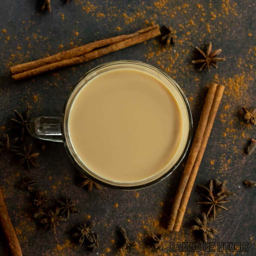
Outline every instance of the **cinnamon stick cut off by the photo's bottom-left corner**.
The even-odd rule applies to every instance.
[[[22,256],[22,250],[16,233],[14,231],[13,225],[11,223],[10,216],[8,214],[2,189],[0,187],[0,225],[2,227],[4,236],[9,246],[9,252],[12,256]]]

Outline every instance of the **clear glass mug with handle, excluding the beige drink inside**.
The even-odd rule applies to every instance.
[[[147,179],[135,182],[116,182],[112,180],[106,180],[103,177],[100,177],[99,175],[91,171],[85,165],[85,163],[82,162],[80,157],[76,154],[72,146],[68,130],[69,112],[72,103],[74,102],[76,96],[79,94],[80,90],[84,86],[86,86],[86,84],[89,81],[94,79],[97,75],[100,75],[103,72],[120,68],[131,68],[139,71],[144,71],[148,74],[155,76],[163,84],[165,84],[170,89],[173,96],[176,98],[180,106],[181,113],[183,115],[182,118],[183,120],[185,120],[185,122],[183,123],[186,124],[185,129],[183,129],[183,134],[179,148],[177,150],[178,153],[175,153],[174,157],[171,159],[169,164],[165,166],[161,171],[157,172],[155,175],[148,177]],[[147,63],[134,60],[118,60],[107,62],[90,70],[79,80],[79,82],[77,82],[76,87],[71,91],[71,93],[67,97],[61,117],[41,116],[33,118],[30,122],[30,133],[33,137],[43,140],[63,142],[66,151],[71,160],[73,161],[74,165],[84,175],[89,177],[91,180],[104,186],[123,190],[140,189],[148,187],[168,177],[179,166],[179,164],[185,157],[191,140],[192,129],[193,123],[190,107],[180,86],[168,75],[163,73],[161,70]]]

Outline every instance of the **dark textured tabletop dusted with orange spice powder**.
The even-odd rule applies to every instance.
[[[36,2],[36,3],[35,3]],[[184,90],[189,99],[195,126],[198,123],[206,87],[210,82],[226,85],[225,94],[212,129],[196,184],[207,185],[211,179],[226,179],[236,193],[227,203],[228,212],[221,210],[211,225],[219,230],[215,242],[252,242],[246,255],[255,255],[255,188],[243,185],[244,179],[256,180],[254,155],[245,157],[244,147],[255,136],[255,127],[242,120],[241,106],[255,107],[256,5],[253,0],[234,1],[85,1],[52,0],[52,13],[41,13],[43,1],[1,1],[0,6],[0,127],[10,132],[17,109],[25,112],[29,106],[32,116],[60,115],[66,96],[76,81],[88,70],[106,61],[136,59],[166,71]],[[76,22],[78,22],[76,24]],[[135,45],[122,51],[89,61],[76,67],[47,73],[22,82],[11,79],[9,67],[25,61],[55,54],[94,40],[136,31],[146,24],[170,25],[177,36],[173,47],[162,47],[158,40]],[[119,31],[119,28],[121,29]],[[76,33],[78,32],[78,33]],[[213,49],[222,48],[219,69],[199,72],[191,60],[198,55],[194,46],[205,47],[211,41]],[[12,131],[13,133],[13,131]],[[14,135],[14,134],[13,134]],[[17,165],[17,158],[1,154],[0,185],[25,256],[87,255],[86,248],[76,247],[70,236],[72,229],[84,218],[96,221],[94,230],[100,233],[100,247],[90,255],[115,255],[120,246],[117,230],[122,226],[128,236],[139,240],[139,248],[126,255],[169,255],[168,243],[200,241],[190,231],[194,216],[200,216],[199,189],[194,187],[179,233],[165,231],[166,216],[171,207],[182,167],[165,181],[140,190],[118,191],[75,186],[79,176],[61,143],[27,138],[34,151],[40,152],[39,168],[29,174]],[[72,214],[61,223],[57,234],[43,231],[33,221],[31,195],[18,190],[17,182],[31,176],[39,181],[54,205],[61,195],[75,199],[80,213]],[[137,193],[137,194],[136,194]],[[114,204],[118,203],[118,207]],[[88,216],[90,215],[90,219]],[[144,242],[150,231],[162,233],[165,248],[156,251]],[[4,241],[1,239],[1,243]],[[1,247],[0,255],[6,252]],[[145,248],[145,250],[143,249]],[[97,254],[98,253],[98,254]],[[165,254],[166,253],[166,254]],[[184,253],[184,255],[195,255]],[[233,254],[227,252],[226,254]],[[225,254],[225,255],[226,255]],[[172,255],[172,254],[171,254]],[[181,255],[174,253],[173,255]],[[182,254],[183,255],[183,254]],[[223,255],[198,252],[196,255]],[[236,255],[242,255],[237,252]]]

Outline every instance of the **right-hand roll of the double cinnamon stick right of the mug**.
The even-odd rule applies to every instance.
[[[214,85],[216,86],[216,84],[214,84]],[[223,86],[223,85],[218,85],[217,86],[217,90],[216,90],[216,94],[215,94],[215,97],[214,97],[214,100],[213,100],[210,115],[209,115],[207,125],[205,127],[205,131],[204,131],[204,134],[203,134],[202,144],[201,144],[201,147],[199,149],[199,152],[198,152],[195,164],[193,166],[193,169],[191,171],[191,174],[189,176],[186,189],[185,189],[184,194],[182,196],[181,204],[180,204],[179,211],[178,211],[178,214],[177,214],[177,217],[176,217],[176,222],[175,222],[175,225],[173,227],[174,231],[180,231],[180,227],[181,227],[182,220],[183,220],[183,217],[184,217],[184,214],[185,214],[187,203],[188,203],[188,200],[189,200],[189,197],[190,197],[190,194],[191,194],[191,190],[192,190],[193,185],[195,183],[196,175],[197,175],[200,163],[202,161],[202,157],[203,157],[203,154],[204,154],[204,151],[205,151],[205,148],[206,148],[206,145],[207,145],[207,142],[208,142],[211,130],[212,130],[214,119],[215,119],[216,113],[217,113],[218,108],[219,108],[219,103],[221,102],[221,99],[222,99],[224,88],[225,88],[225,86]]]

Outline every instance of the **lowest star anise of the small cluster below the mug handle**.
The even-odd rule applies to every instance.
[[[40,219],[38,222],[45,225],[45,230],[51,227],[54,234],[56,234],[56,227],[59,226],[60,221],[67,221],[67,219],[60,215],[60,209],[56,208],[55,211],[49,210],[46,217]]]

